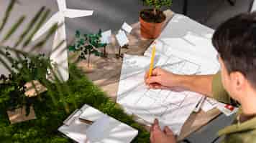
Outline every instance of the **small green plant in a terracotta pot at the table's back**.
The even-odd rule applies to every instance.
[[[165,14],[162,6],[171,6],[172,0],[143,0],[143,3],[152,8],[140,11],[140,32],[145,39],[155,39],[160,35]]]

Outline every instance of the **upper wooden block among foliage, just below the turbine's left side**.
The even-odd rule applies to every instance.
[[[33,84],[35,85],[35,87],[33,86]],[[25,84],[25,87],[26,87],[25,95],[27,97],[36,97],[38,94],[41,94],[42,92],[47,91],[46,87],[44,87],[42,84],[40,84],[40,82],[35,80],[32,82],[27,82],[27,84]]]

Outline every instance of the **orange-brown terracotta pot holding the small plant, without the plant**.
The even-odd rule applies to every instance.
[[[165,17],[166,19],[166,17]],[[162,31],[165,20],[160,23],[148,22],[140,14],[140,34],[145,39],[156,39]]]

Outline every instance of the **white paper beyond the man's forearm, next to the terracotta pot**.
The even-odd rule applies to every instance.
[[[201,65],[201,73],[216,74],[219,71],[217,51],[211,44],[214,30],[186,16],[175,14],[156,42],[156,53],[175,55]],[[145,51],[150,56],[152,45]]]

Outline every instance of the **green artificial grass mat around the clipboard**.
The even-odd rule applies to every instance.
[[[0,104],[0,142],[72,142],[58,132],[68,115],[83,104],[89,104],[121,122],[139,130],[132,142],[150,142],[150,133],[124,114],[106,94],[90,82],[74,64],[70,64],[70,79],[67,84],[52,84],[40,97],[34,99],[33,107],[37,119],[18,124],[10,124],[6,114],[6,104]],[[0,85],[1,86],[1,85]],[[60,95],[59,89],[65,89]],[[0,87],[0,90],[8,90]],[[56,92],[53,92],[56,91]],[[51,92],[51,93],[50,93]],[[51,96],[49,95],[51,94]],[[54,97],[52,97],[54,95]],[[8,95],[0,95],[0,97]],[[8,100],[8,99],[6,99]],[[66,106],[63,106],[65,103]],[[65,112],[69,111],[69,113]]]

